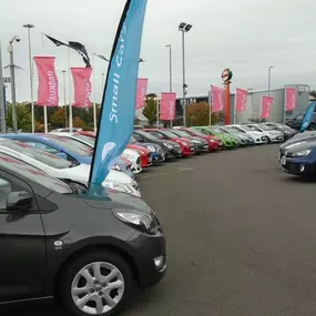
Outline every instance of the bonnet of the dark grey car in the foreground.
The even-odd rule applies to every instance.
[[[140,197],[125,194],[113,190],[101,190],[102,196],[90,198],[82,196],[81,198],[91,207],[104,210],[126,210],[136,211],[145,214],[153,214],[153,210]],[[108,203],[111,202],[111,205]],[[109,207],[110,206],[110,207]]]

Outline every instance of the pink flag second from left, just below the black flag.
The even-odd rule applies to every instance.
[[[90,77],[92,68],[72,68],[71,69],[73,85],[74,85],[74,103],[73,106],[86,108],[91,106],[91,81]]]

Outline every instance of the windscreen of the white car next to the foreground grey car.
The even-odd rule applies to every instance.
[[[21,142],[4,140],[0,142],[0,145],[16,151],[18,154],[21,153],[23,155],[27,155],[53,169],[69,169],[72,166],[72,163],[67,160],[63,160],[54,154],[38,150]]]

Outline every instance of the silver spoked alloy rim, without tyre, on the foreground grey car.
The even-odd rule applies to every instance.
[[[106,262],[94,262],[77,273],[71,296],[83,313],[101,315],[121,302],[124,288],[124,278],[118,267]]]

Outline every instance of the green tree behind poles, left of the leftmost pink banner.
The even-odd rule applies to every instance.
[[[23,132],[31,132],[32,131],[32,113],[31,113],[30,108],[27,104],[17,103],[16,112],[17,112],[18,129],[23,130]],[[7,125],[11,129],[13,128],[12,104],[10,103],[8,103]]]

